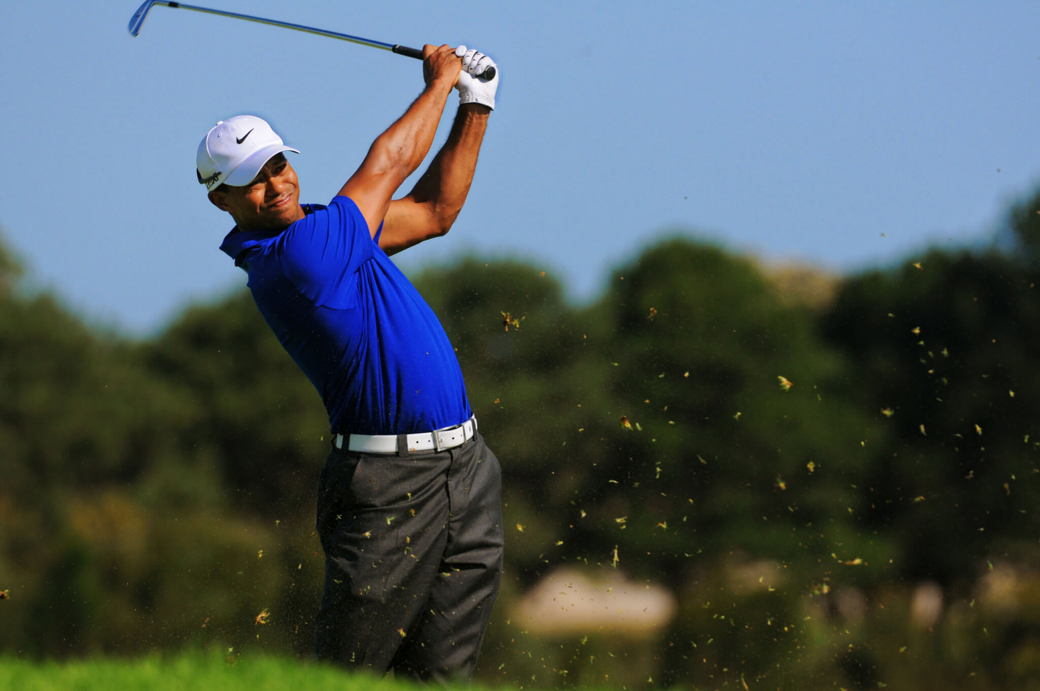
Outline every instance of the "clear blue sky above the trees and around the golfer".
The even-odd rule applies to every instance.
[[[586,300],[684,229],[849,272],[985,242],[1040,184],[1035,2],[196,3],[498,60],[470,200],[406,268],[527,259]],[[183,9],[132,39],[136,7],[3,3],[0,227],[34,285],[147,335],[244,283],[196,181],[210,126],[268,119],[326,202],[422,81],[417,60]]]

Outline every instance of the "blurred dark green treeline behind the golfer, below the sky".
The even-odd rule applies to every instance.
[[[480,677],[1036,688],[1038,213],[841,280],[677,237],[586,307],[524,263],[417,276],[504,470]],[[133,340],[19,271],[0,254],[0,652],[309,655],[328,427],[248,292]],[[678,614],[532,634],[515,604],[560,565]]]

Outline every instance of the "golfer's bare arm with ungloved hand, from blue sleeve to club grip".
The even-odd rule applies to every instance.
[[[387,215],[390,198],[430,152],[462,67],[449,46],[427,45],[423,53],[426,87],[405,114],[372,143],[361,167],[339,190],[358,205],[372,236]]]

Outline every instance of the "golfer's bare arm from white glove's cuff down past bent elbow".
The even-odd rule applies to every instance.
[[[380,235],[384,252],[400,252],[448,232],[473,182],[490,112],[490,108],[476,103],[459,106],[448,140],[430,169],[412,191],[390,202]]]

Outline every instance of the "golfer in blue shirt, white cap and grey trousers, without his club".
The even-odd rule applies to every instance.
[[[389,255],[443,235],[462,209],[495,105],[494,62],[425,46],[425,88],[328,206],[300,204],[267,123],[238,116],[199,146],[199,181],[235,228],[220,249],[324,401],[318,485],[326,555],[315,652],[418,680],[472,676],[498,594],[501,474],[477,432],[440,322]],[[415,187],[451,89],[451,133]],[[333,113],[330,132],[343,113]]]

